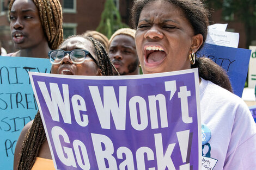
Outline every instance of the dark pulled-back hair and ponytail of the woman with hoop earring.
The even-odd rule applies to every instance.
[[[137,28],[139,16],[141,15],[142,9],[150,2],[154,1],[167,1],[176,5],[180,8],[188,22],[190,22],[192,29],[194,30],[194,35],[202,34],[203,43],[200,48],[203,47],[208,34],[209,26],[209,11],[206,9],[205,4],[201,0],[137,0],[133,2],[133,7],[131,10],[131,18],[133,28]],[[199,49],[200,49],[199,48]],[[198,49],[198,50],[199,50]],[[203,79],[210,80],[213,83],[223,87],[224,89],[233,92],[228,75],[225,71],[214,63],[214,61],[205,58],[197,58],[196,64],[191,65],[192,68],[198,68],[199,77]]]

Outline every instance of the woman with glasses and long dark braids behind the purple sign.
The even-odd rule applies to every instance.
[[[48,53],[51,73],[114,75],[105,48],[92,37],[71,36]],[[14,154],[14,169],[54,169],[40,113],[21,131]]]

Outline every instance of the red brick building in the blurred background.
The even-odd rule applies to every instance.
[[[64,37],[73,34],[81,34],[86,30],[94,30],[100,23],[101,12],[106,0],[60,0],[63,7]],[[114,0],[124,23],[130,24],[130,9],[132,0]],[[0,41],[7,52],[14,52],[11,41],[9,19],[9,0],[0,0]],[[212,14],[215,23],[229,23],[228,30],[240,34],[240,48],[246,48],[246,35],[242,23],[236,21],[224,21],[221,19],[221,11]],[[256,40],[256,37],[255,37]]]

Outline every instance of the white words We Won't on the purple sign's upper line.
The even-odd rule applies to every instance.
[[[70,98],[74,117],[78,125],[86,127],[89,124],[86,102],[83,97],[74,95],[70,97],[68,84],[62,84],[62,92],[59,85],[50,83],[50,93],[47,90],[46,84],[38,81],[42,96],[48,107],[53,121],[59,122],[59,115],[62,115],[64,123],[71,124]],[[176,92],[176,82],[166,81],[166,91],[170,91],[170,100]],[[126,129],[126,101],[127,87],[119,86],[119,99],[115,95],[113,86],[103,86],[102,95],[99,92],[99,87],[89,86],[90,94],[92,95],[93,103],[99,118],[102,129],[111,129],[111,117],[117,130]],[[102,96],[102,97],[101,97]],[[188,112],[188,97],[191,96],[190,91],[187,91],[187,86],[181,86],[178,97],[181,101],[181,117],[184,123],[192,123],[192,117]],[[103,98],[103,99],[102,99]],[[157,108],[158,103],[158,108]],[[159,123],[161,128],[168,127],[166,97],[163,94],[150,95],[148,100],[141,96],[133,96],[129,99],[129,113],[131,126],[135,130],[144,130],[151,123],[151,129],[158,129]],[[137,107],[138,106],[138,107]],[[148,109],[149,108],[149,114]],[[158,111],[159,110],[159,111]],[[157,116],[159,114],[160,120]],[[149,117],[148,117],[149,115]]]

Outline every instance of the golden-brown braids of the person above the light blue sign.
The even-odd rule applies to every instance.
[[[15,0],[10,0],[9,12]],[[58,0],[32,0],[39,10],[40,21],[48,46],[57,49],[63,41],[62,6]]]

